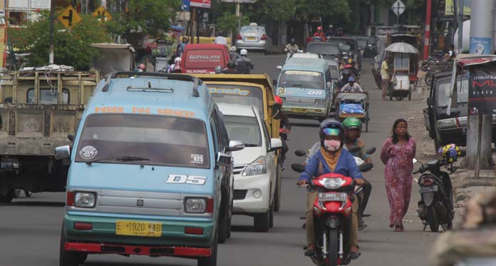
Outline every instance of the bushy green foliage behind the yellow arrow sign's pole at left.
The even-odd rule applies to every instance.
[[[81,14],[82,21],[73,29],[65,30],[57,20],[54,24],[53,44],[54,63],[73,66],[78,70],[91,67],[93,57],[98,50],[90,44],[108,40],[108,35],[95,17]],[[12,46],[30,51],[29,64],[44,66],[48,64],[50,51],[50,16],[48,12],[41,15],[38,21],[27,22],[21,29],[9,29]]]

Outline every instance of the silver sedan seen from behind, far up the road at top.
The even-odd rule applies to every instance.
[[[249,24],[242,26],[236,37],[236,47],[238,50],[257,50],[269,54],[272,50],[272,39],[267,35],[263,26]]]

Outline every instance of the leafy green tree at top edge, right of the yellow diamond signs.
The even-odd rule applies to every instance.
[[[179,10],[181,0],[108,0],[113,19],[107,29],[123,36],[129,44],[138,46],[145,36],[158,36],[167,31]]]

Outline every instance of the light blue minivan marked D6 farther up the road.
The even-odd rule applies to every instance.
[[[329,63],[322,58],[289,58],[277,80],[276,95],[290,117],[324,121],[332,104]]]

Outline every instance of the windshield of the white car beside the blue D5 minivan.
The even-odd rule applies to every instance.
[[[262,146],[259,123],[254,116],[224,115],[224,124],[229,139],[242,141],[247,147]]]

